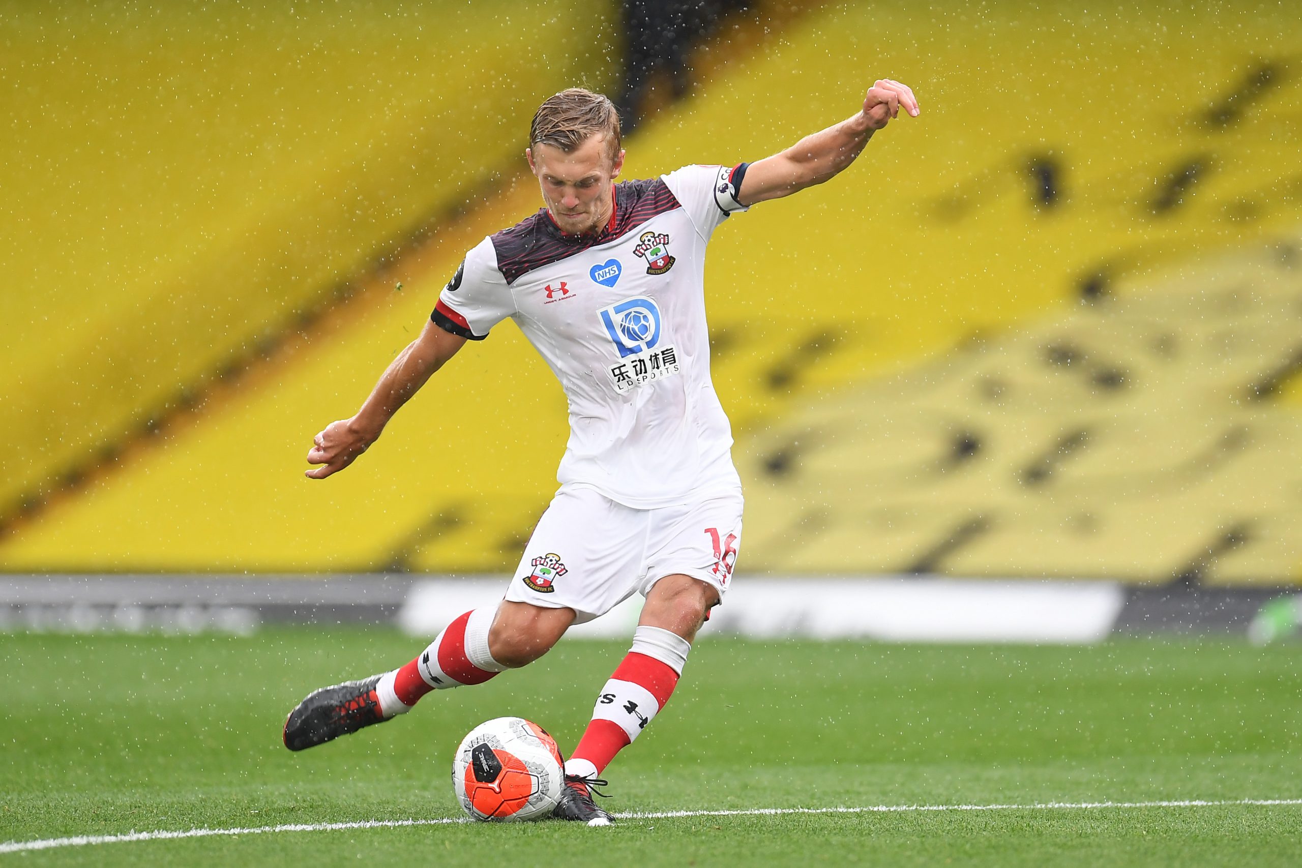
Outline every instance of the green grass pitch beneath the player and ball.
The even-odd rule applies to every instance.
[[[290,753],[315,687],[409,660],[388,630],[0,636],[0,842],[456,817],[452,751],[519,714],[574,746],[626,643]],[[1302,799],[1302,647],[698,643],[611,766],[612,811]],[[0,854],[18,864],[1297,864],[1302,806],[1006,808],[448,824]]]

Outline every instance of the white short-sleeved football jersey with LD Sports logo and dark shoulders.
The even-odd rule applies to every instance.
[[[569,400],[557,479],[634,509],[740,488],[710,379],[706,245],[746,164],[615,185],[611,221],[569,236],[547,210],[484,238],[431,319],[471,340],[512,318]]]

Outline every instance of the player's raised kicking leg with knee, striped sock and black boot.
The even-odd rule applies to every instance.
[[[323,744],[411,711],[432,690],[482,685],[538,660],[574,621],[574,610],[503,601],[466,612],[400,669],[310,694],[285,720],[292,751]]]

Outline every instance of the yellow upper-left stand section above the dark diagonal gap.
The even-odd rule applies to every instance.
[[[0,513],[452,215],[522,113],[613,81],[615,4],[5,13]],[[582,30],[575,21],[585,22]]]

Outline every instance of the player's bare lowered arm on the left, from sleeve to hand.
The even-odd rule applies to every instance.
[[[421,337],[408,344],[406,349],[389,363],[357,415],[329,423],[312,439],[307,463],[320,467],[303,471],[305,475],[309,479],[326,479],[353,463],[379,439],[398,407],[456,355],[465,342],[466,338],[460,334],[452,334],[432,321],[426,321]]]

